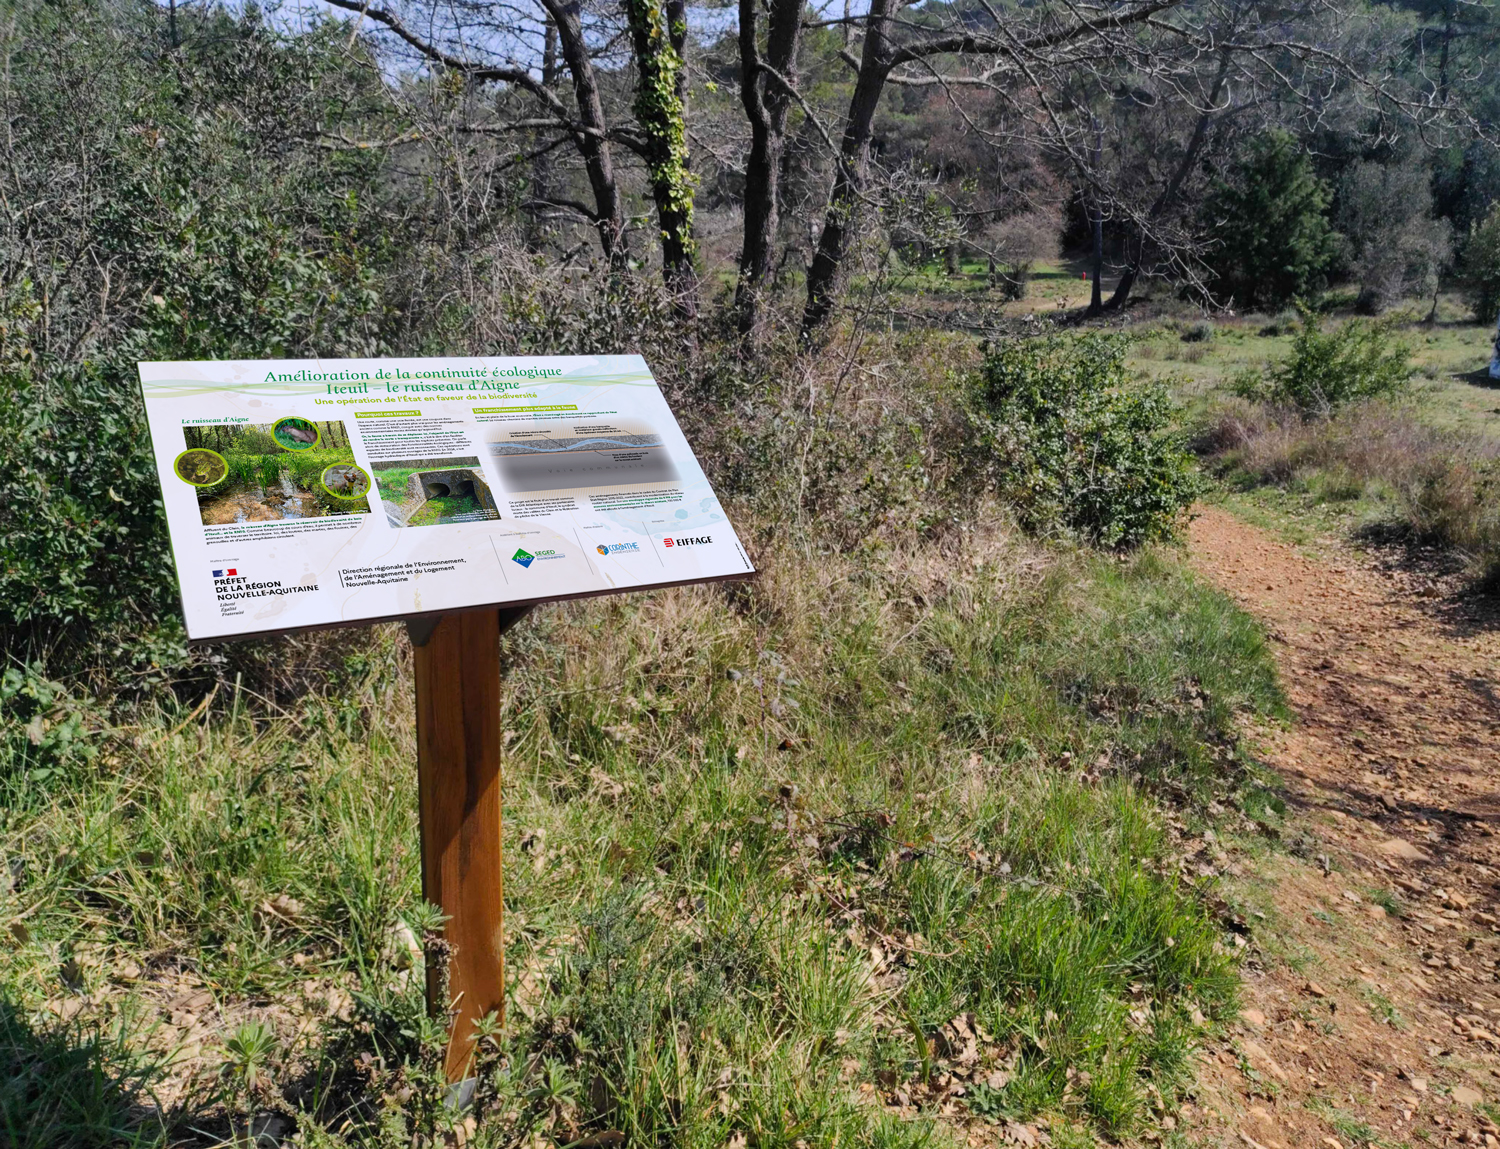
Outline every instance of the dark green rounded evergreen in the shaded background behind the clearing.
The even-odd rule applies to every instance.
[[[1326,219],[1329,200],[1290,134],[1252,140],[1204,202],[1204,224],[1218,240],[1218,288],[1242,304],[1274,306],[1320,288],[1340,249]]]

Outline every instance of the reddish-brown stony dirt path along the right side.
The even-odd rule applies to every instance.
[[[1500,1146],[1500,616],[1200,510],[1194,562],[1272,632],[1296,723],[1260,746],[1290,849],[1245,867],[1246,1008],[1184,1131]]]

